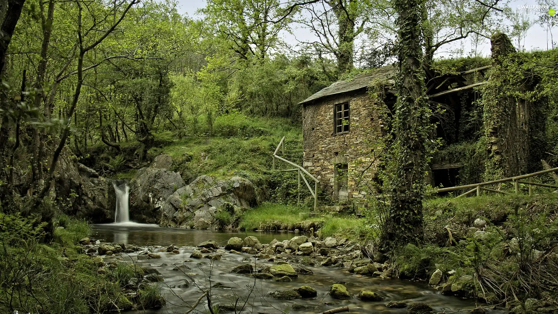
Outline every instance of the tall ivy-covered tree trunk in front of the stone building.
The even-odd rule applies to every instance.
[[[431,110],[426,102],[422,68],[421,19],[424,0],[393,0],[398,13],[399,73],[393,121],[395,142],[388,165],[389,215],[384,248],[416,243],[422,238],[422,199],[427,167],[427,140]]]

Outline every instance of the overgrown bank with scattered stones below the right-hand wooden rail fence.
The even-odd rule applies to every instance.
[[[516,306],[517,313],[556,305],[556,193],[437,198],[425,205],[425,242],[392,252],[395,275],[428,280],[437,272],[432,284],[442,293]]]

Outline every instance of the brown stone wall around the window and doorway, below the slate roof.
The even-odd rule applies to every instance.
[[[334,134],[334,105],[349,101],[349,132]],[[384,108],[372,103],[364,91],[345,93],[305,104],[303,110],[303,166],[320,180],[320,187],[333,197],[334,164],[348,164],[348,197],[364,198],[366,186],[376,175]]]

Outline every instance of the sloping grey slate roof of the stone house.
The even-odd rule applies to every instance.
[[[339,80],[328,87],[322,89],[318,93],[304,99],[299,104],[315,101],[319,98],[331,96],[335,94],[347,93],[356,91],[357,89],[367,88],[374,79],[384,79],[389,83],[393,83],[393,78],[397,74],[397,68],[394,64],[382,66],[371,72],[361,73],[356,75],[352,80]]]

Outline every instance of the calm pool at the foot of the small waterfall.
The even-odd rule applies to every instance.
[[[214,240],[227,241],[230,237],[256,236],[262,243],[273,239],[279,241],[291,239],[295,232],[265,231],[205,231],[181,228],[162,228],[146,223],[102,223],[93,225],[93,237],[105,242],[119,242],[136,245],[197,245],[200,242]]]

